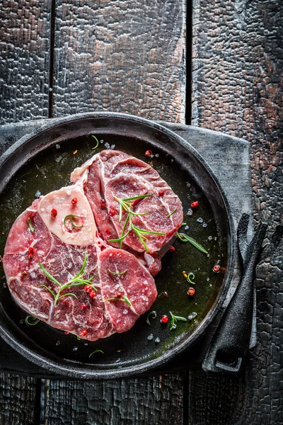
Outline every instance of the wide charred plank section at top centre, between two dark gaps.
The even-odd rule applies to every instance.
[[[58,0],[54,117],[185,122],[185,0]]]

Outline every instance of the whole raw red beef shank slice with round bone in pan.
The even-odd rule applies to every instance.
[[[151,274],[160,269],[160,257],[182,223],[183,210],[156,171],[122,152],[95,155],[71,180],[73,186],[35,200],[14,222],[4,271],[23,310],[54,328],[96,341],[130,329],[156,300]],[[164,195],[158,197],[161,190]],[[120,207],[119,200],[144,195],[125,202],[129,211],[146,215]],[[110,242],[120,238],[129,215],[127,237],[122,244]],[[130,223],[145,232],[141,239]]]

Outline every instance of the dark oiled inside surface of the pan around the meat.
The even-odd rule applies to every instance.
[[[6,326],[24,341],[23,344],[52,361],[59,360],[65,365],[103,372],[105,369],[117,370],[144,365],[193,339],[204,325],[209,312],[219,302],[224,290],[231,241],[229,218],[221,193],[207,169],[185,146],[177,144],[176,149],[173,142],[177,142],[172,140],[168,140],[166,146],[167,135],[163,135],[160,130],[143,134],[142,125],[139,131],[134,128],[127,134],[125,124],[123,127],[120,122],[113,126],[112,122],[109,125],[108,120],[105,123],[100,121],[93,128],[90,128],[88,122],[84,124],[72,124],[73,130],[70,132],[63,126],[63,130],[47,130],[45,135],[33,137],[33,146],[43,144],[45,148],[42,150],[40,147],[40,152],[38,149],[29,151],[0,195],[0,254],[4,253],[6,238],[13,222],[36,197],[71,184],[69,176],[76,166],[86,162],[93,154],[109,148],[132,154],[158,171],[183,203],[186,226],[182,231],[193,237],[209,253],[203,254],[195,246],[183,244],[177,239],[175,251],[168,252],[163,257],[161,272],[155,277],[158,298],[149,311],[156,312],[156,319],[151,314],[151,324],[148,324],[146,313],[129,331],[96,342],[79,340],[71,334],[65,335],[63,331],[53,329],[43,322],[28,326],[25,323],[27,314],[16,305],[9,293],[1,265],[2,324],[5,320]],[[93,147],[96,141],[91,135],[96,135],[100,141],[95,150]],[[25,147],[22,154],[24,149]],[[145,156],[147,149],[152,151],[151,157]],[[13,155],[15,154],[17,152]],[[15,158],[11,161],[15,162]],[[199,201],[199,207],[191,209],[190,204],[195,200]],[[221,266],[219,273],[213,271],[216,263]],[[183,272],[194,273],[195,284],[188,283]],[[192,297],[187,295],[189,287],[195,288],[195,295]],[[170,329],[170,312],[184,317],[187,322],[178,321],[175,329]],[[161,323],[163,314],[168,316],[168,324]],[[96,350],[103,353],[93,353]]]

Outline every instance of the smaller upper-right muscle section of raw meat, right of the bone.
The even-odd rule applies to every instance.
[[[120,243],[109,240],[121,236],[127,217],[124,211],[120,220],[116,198],[143,195],[151,196],[134,202],[133,210],[139,214],[150,213],[135,215],[132,223],[139,229],[163,235],[145,234],[145,247],[137,234],[131,231],[123,239],[123,248],[136,253],[147,251],[148,254],[162,256],[171,246],[175,232],[183,222],[182,203],[157,171],[145,162],[124,152],[105,150],[75,169],[71,174],[71,181],[83,181],[98,231],[112,246],[120,246]],[[127,227],[125,233],[126,231]]]

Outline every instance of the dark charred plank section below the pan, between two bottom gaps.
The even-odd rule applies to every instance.
[[[46,383],[45,425],[183,424],[183,374]]]

